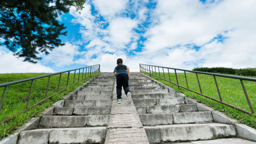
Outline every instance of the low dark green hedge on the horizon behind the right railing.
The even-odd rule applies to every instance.
[[[242,76],[256,76],[256,68],[233,69],[228,67],[196,67],[193,70],[200,72],[212,72],[221,74],[238,74]]]

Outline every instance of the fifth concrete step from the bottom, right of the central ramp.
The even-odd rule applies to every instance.
[[[165,94],[132,94],[133,99],[154,99],[154,98],[173,98],[176,97],[175,92],[169,92]]]

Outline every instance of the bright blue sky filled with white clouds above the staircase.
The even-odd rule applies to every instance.
[[[88,0],[58,17],[66,43],[38,64],[0,47],[0,73],[59,72],[100,64],[113,72],[122,58],[139,63],[194,67],[256,67],[256,0]]]

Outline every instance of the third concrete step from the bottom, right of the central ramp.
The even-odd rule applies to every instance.
[[[138,114],[159,114],[171,112],[195,112],[196,104],[136,106]]]

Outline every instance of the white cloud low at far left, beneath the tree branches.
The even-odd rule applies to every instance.
[[[50,67],[40,63],[32,64],[18,59],[5,47],[0,47],[0,73],[54,72]]]

